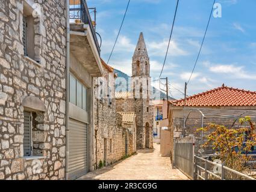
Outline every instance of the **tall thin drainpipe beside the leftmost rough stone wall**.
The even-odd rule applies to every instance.
[[[69,26],[69,0],[66,0],[67,13],[67,42],[66,42],[66,161],[65,161],[65,179],[69,177],[69,47],[70,47],[70,26]]]

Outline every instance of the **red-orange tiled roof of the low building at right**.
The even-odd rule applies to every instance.
[[[172,101],[174,106],[184,106],[184,100]],[[256,92],[222,86],[196,94],[186,99],[186,106],[256,106]]]

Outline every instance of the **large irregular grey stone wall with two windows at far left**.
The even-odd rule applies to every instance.
[[[23,56],[23,0],[0,0],[0,179],[64,179],[66,1],[35,2],[43,10],[34,22],[40,63]],[[33,123],[33,155],[42,158],[23,157],[27,96],[46,107]]]

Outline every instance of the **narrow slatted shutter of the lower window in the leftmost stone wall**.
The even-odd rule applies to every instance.
[[[24,156],[31,155],[31,113],[24,112],[24,138],[23,138]]]

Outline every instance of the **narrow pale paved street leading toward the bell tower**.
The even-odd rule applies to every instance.
[[[79,180],[185,180],[188,179],[178,169],[172,169],[169,157],[160,157],[160,145],[154,143],[154,149],[137,151],[138,154],[110,167],[87,173]]]

